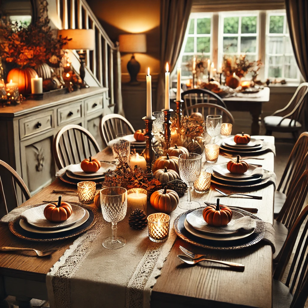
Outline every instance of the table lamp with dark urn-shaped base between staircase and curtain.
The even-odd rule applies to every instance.
[[[132,58],[127,63],[127,70],[131,76],[130,85],[137,85],[137,75],[140,71],[140,64],[135,59],[135,52],[146,52],[145,34],[121,34],[119,35],[120,52],[132,53]]]

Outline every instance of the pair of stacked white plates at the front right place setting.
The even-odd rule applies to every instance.
[[[255,231],[254,225],[245,230],[241,229],[242,224],[238,220],[245,215],[234,210],[232,210],[233,216],[228,225],[222,227],[210,226],[203,218],[203,210],[204,208],[196,209],[186,215],[184,228],[194,236],[213,241],[234,241],[248,237]]]

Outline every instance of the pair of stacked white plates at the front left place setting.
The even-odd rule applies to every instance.
[[[44,216],[44,209],[47,204],[39,205],[27,209],[22,213],[19,225],[22,229],[31,233],[50,234],[60,237],[62,232],[73,230],[83,225],[90,217],[87,209],[79,205],[71,205],[73,212],[71,216],[63,222],[51,222]]]

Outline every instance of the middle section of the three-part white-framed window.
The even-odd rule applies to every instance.
[[[219,53],[223,55],[246,55],[252,61],[258,56],[258,14],[222,13],[219,33]]]

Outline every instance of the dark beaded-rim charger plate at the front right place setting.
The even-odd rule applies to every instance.
[[[244,215],[250,216],[253,219],[259,219],[257,216],[254,216],[253,214],[241,210],[241,209],[235,209],[230,207],[230,209],[240,212]],[[181,239],[184,241],[200,246],[203,248],[209,248],[209,249],[218,249],[218,250],[234,250],[234,249],[242,249],[245,247],[252,246],[259,241],[261,241],[264,238],[265,229],[262,229],[260,233],[255,231],[253,234],[249,235],[248,237],[242,238],[240,240],[234,240],[234,241],[212,241],[212,240],[206,240],[201,237],[197,237],[191,233],[189,233],[185,227],[184,227],[184,221],[186,218],[186,215],[190,212],[193,212],[195,209],[191,209],[185,213],[180,214],[178,217],[176,217],[174,221],[174,229]]]

